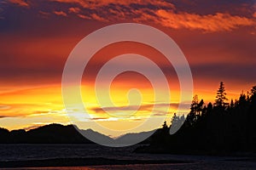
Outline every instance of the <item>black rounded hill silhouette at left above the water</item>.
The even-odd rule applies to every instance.
[[[2,144],[91,144],[73,125],[49,124],[29,131],[0,128]]]

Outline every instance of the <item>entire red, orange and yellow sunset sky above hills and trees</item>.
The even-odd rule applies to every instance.
[[[206,103],[214,102],[221,81],[228,99],[237,99],[242,91],[246,93],[256,84],[255,1],[2,0],[0,127],[30,129],[52,122],[71,123],[61,95],[62,71],[69,54],[91,32],[126,22],[154,26],[172,37],[189,62],[194,94]],[[97,103],[97,72],[114,56],[131,53],[147,56],[159,65],[171,88],[171,103],[154,101],[152,84],[136,72],[122,73],[113,80],[110,91],[116,106]],[[114,43],[98,51],[89,64],[81,86],[83,102],[91,117],[83,128],[94,128],[91,122],[96,121],[110,129],[118,127],[119,133],[102,132],[117,136],[126,132],[122,130],[133,132],[132,127],[139,126],[148,116],[166,116],[169,123],[177,111],[177,74],[154,48],[138,42]],[[150,70],[150,66],[133,60],[118,63],[136,64]],[[111,116],[137,110],[137,104],[127,106],[127,92],[131,88],[142,94],[142,101],[137,101],[141,102],[139,110],[128,119]],[[136,100],[137,94],[131,99]],[[156,112],[150,115],[154,105]]]

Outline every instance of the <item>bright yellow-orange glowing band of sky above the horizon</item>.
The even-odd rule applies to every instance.
[[[142,94],[142,103],[139,103],[141,108],[133,115],[127,116],[125,118],[111,116],[106,112],[101,111],[101,106],[97,103],[96,100],[94,88],[92,88],[92,86],[83,86],[82,96],[84,105],[86,106],[86,109],[90,111],[90,115],[92,117],[91,120],[88,120],[88,126],[83,128],[94,128],[90,127],[90,121],[96,121],[103,127],[108,127],[109,129],[116,129],[118,127],[120,133],[109,134],[112,136],[118,136],[121,134],[122,130],[129,130],[131,127],[135,127],[143,123],[148,118],[148,116],[150,116],[153,105],[157,105],[156,109],[159,113],[153,113],[154,116],[166,116],[167,122],[170,122],[173,113],[177,111],[175,103],[177,103],[179,99],[178,90],[171,91],[172,103],[174,104],[171,105],[167,115],[160,114],[163,110],[163,106],[158,105],[160,104],[160,101],[154,101],[154,91],[150,87],[150,84],[145,85],[145,83],[143,83],[143,85],[134,84],[131,86],[121,82],[113,83],[110,90],[113,103],[117,107],[129,105],[129,100],[127,99],[126,94],[129,92],[130,88],[136,88],[136,86]],[[239,97],[239,93],[231,94],[229,91],[227,91],[227,93],[229,99],[237,99]],[[195,94],[199,94],[199,99],[203,98],[206,103],[213,101],[216,95],[214,91],[209,92],[207,90],[197,89],[195,89]],[[162,95],[165,95],[165,93]],[[134,97],[131,95],[130,97],[131,99],[135,99],[137,95]],[[0,119],[1,127],[6,127],[10,130],[17,128],[38,127],[52,122],[62,124],[70,123],[62,103],[61,85],[52,85],[38,88],[17,88],[15,91],[6,91],[6,93],[2,92],[0,105],[2,116]],[[108,105],[104,105],[104,107],[108,107]],[[115,110],[112,112],[113,114],[119,110],[116,112],[114,111]],[[79,111],[76,111],[76,113],[79,114]],[[150,127],[140,129],[140,131],[148,130],[152,129]],[[105,133],[108,132],[106,131]]]

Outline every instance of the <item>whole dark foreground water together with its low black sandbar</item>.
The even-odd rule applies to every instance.
[[[4,169],[256,169],[256,156],[134,153],[138,146],[98,144],[0,144]]]

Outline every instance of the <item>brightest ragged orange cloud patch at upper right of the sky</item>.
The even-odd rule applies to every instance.
[[[189,13],[174,13],[160,9],[157,11],[156,22],[162,26],[171,28],[188,28],[199,29],[203,31],[232,31],[239,26],[256,26],[256,21],[230,14],[189,14]]]

